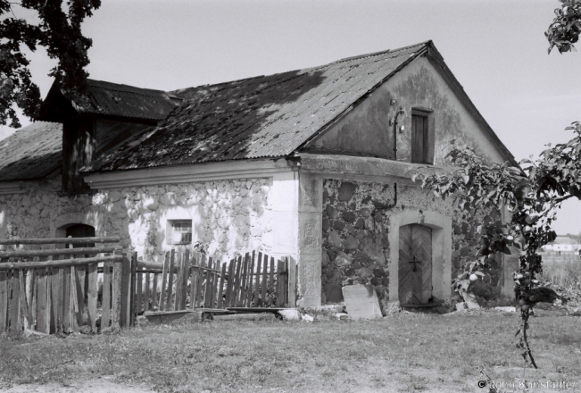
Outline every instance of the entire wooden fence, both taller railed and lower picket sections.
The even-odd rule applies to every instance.
[[[189,249],[162,263],[138,261],[111,243],[120,238],[0,240],[0,334],[133,326],[137,314],[236,307],[293,307],[296,263],[261,252],[220,263]],[[102,247],[22,249],[101,244]],[[99,291],[98,278],[102,279]]]

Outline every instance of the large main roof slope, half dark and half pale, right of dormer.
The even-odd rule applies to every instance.
[[[290,155],[429,45],[177,90],[185,100],[165,121],[83,171]]]

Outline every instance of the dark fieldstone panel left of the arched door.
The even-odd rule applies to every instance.
[[[341,302],[341,288],[352,284],[371,283],[388,297],[388,222],[380,209],[393,198],[388,185],[323,181],[323,303]]]

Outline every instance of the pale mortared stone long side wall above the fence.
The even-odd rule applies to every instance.
[[[170,249],[168,220],[191,219],[193,243],[228,259],[253,249],[270,252],[271,179],[118,188],[62,197],[60,179],[29,183],[22,194],[0,195],[0,238],[64,236],[63,226],[84,223],[97,236],[154,258]]]

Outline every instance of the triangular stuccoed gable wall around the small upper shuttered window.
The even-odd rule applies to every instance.
[[[391,105],[392,99],[397,105]],[[398,118],[398,126],[403,126],[396,134],[398,161],[411,161],[412,108],[433,111],[430,127],[434,130],[430,132],[434,132],[436,165],[446,165],[445,155],[450,151],[452,139],[457,146],[469,146],[488,161],[506,161],[492,139],[486,136],[486,129],[425,57],[415,59],[398,71],[309,146],[314,151],[394,159],[394,127],[389,119],[394,118],[400,107],[407,115]]]

